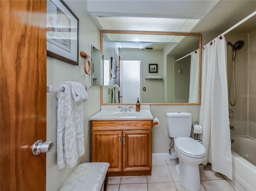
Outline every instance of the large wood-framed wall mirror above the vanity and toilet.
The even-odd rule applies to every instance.
[[[200,105],[201,34],[101,31],[100,38],[104,55],[120,57],[119,78],[115,83],[120,86],[119,104],[134,104],[136,97],[128,102],[125,97],[127,92],[128,97],[134,96],[132,90],[136,89],[142,104]],[[126,68],[126,63],[132,67]],[[139,81],[133,83],[135,73]],[[125,76],[131,89],[123,86]],[[106,95],[109,88],[101,88],[101,105],[116,105],[111,103],[112,95]]]

